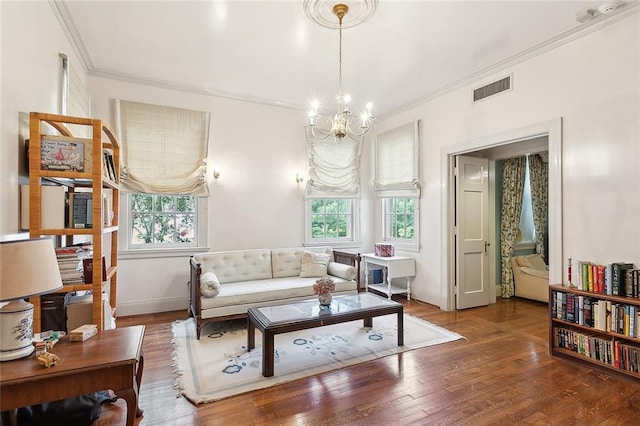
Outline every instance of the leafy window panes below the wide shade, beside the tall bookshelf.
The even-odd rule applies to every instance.
[[[193,195],[130,194],[129,247],[197,246],[197,203]]]

